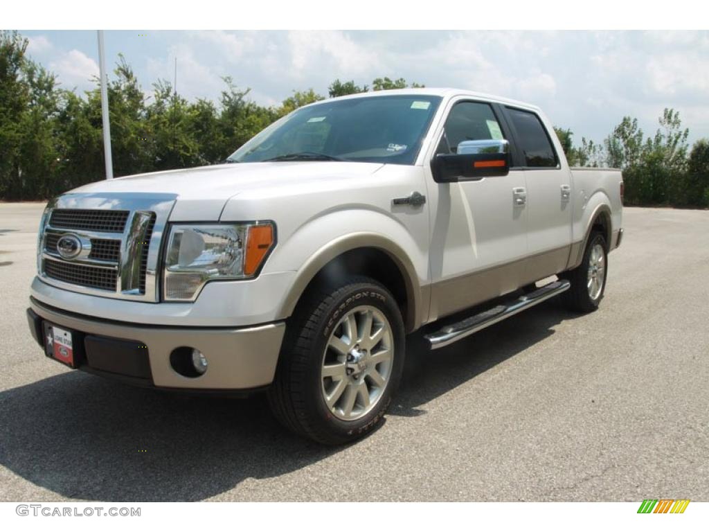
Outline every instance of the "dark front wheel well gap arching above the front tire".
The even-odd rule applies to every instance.
[[[324,265],[308,283],[305,293],[323,287],[340,286],[347,277],[364,275],[372,277],[391,292],[399,309],[407,331],[413,323],[413,305],[410,304],[406,279],[396,262],[385,251],[377,248],[355,248],[337,255]]]

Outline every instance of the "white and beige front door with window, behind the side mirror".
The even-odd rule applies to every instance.
[[[457,153],[464,140],[509,138],[490,104],[455,101],[436,153]],[[430,172],[430,168],[428,170]],[[525,172],[439,184],[428,180],[430,201],[429,319],[518,288],[527,256]]]

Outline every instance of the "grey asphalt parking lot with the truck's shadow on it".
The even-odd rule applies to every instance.
[[[41,204],[0,204],[3,501],[709,501],[709,211],[625,209],[601,309],[547,301],[450,348],[410,338],[345,448],[263,397],[134,389],[47,360],[25,318]]]

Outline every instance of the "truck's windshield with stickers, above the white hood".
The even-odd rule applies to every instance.
[[[440,96],[369,96],[297,109],[236,150],[230,162],[347,160],[412,165]]]

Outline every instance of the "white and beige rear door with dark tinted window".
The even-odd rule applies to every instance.
[[[557,153],[554,131],[537,113],[506,106],[505,115],[514,135],[516,164],[527,186],[525,282],[532,282],[566,267],[571,245],[571,172]]]

